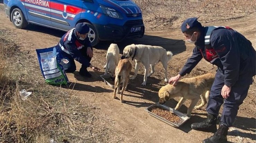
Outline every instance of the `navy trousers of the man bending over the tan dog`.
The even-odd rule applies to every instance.
[[[221,123],[228,127],[232,126],[239,106],[243,103],[247,96],[250,85],[252,84],[252,77],[239,78],[236,84],[231,87],[231,92],[227,99],[221,96],[221,89],[224,86],[224,77],[216,73],[215,80],[211,87],[210,98],[208,101],[207,112],[213,115],[219,115],[219,110],[223,104],[223,111],[221,114]]]

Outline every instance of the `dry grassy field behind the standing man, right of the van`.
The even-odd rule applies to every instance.
[[[134,0],[143,12],[147,30],[180,28],[189,17],[198,17],[200,22],[232,20],[256,11],[252,0]]]

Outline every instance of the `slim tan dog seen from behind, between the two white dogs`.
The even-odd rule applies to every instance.
[[[128,59],[121,59],[116,67],[116,77],[115,77],[115,89],[114,89],[114,95],[113,98],[116,98],[117,88],[118,93],[120,92],[119,85],[122,82],[122,91],[120,96],[120,101],[123,102],[123,94],[124,90],[127,89],[128,81],[130,78],[130,72],[131,72],[131,63]]]

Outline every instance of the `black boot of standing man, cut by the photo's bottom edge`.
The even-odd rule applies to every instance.
[[[228,127],[220,123],[217,132],[208,139],[203,140],[203,143],[227,143],[227,134]]]

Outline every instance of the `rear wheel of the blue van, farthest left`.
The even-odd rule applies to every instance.
[[[12,10],[11,22],[16,28],[19,28],[19,29],[24,29],[28,25],[28,22],[25,19],[23,12],[19,8]]]

